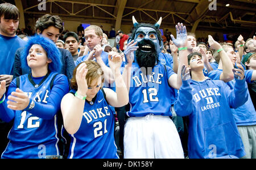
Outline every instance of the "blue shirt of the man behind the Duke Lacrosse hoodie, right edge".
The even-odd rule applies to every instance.
[[[221,69],[216,69],[209,73],[209,77],[213,80],[220,80],[220,75],[222,73]],[[245,71],[245,80],[246,82],[251,83],[251,76],[253,74],[253,70]],[[230,87],[230,89],[234,89],[235,80],[229,81],[226,84]],[[246,93],[248,95],[248,99],[242,106],[237,109],[232,109],[234,118],[236,120],[237,126],[249,126],[256,125],[256,112],[253,106],[253,102],[251,101],[251,97],[249,94],[249,90],[247,88]]]

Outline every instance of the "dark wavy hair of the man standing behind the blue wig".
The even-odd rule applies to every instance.
[[[64,31],[63,20],[57,15],[46,14],[36,21],[36,31],[39,30],[41,33],[48,27],[53,26],[59,28],[60,33]]]

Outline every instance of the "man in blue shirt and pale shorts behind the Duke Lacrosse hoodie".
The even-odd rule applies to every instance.
[[[229,60],[223,61],[223,58],[221,58],[222,61],[220,61],[218,69],[210,72],[208,77],[212,78],[213,80],[225,81],[230,89],[234,89],[237,80],[227,80],[223,75],[232,71],[232,68],[238,67],[238,64],[236,63],[237,56],[233,47],[229,45],[222,45],[222,49],[224,49],[223,51],[228,54],[226,59]],[[220,51],[220,53],[221,52],[222,51]],[[232,63],[232,68],[227,69],[224,64],[226,64],[226,62],[230,63],[230,61]],[[251,69],[246,70],[244,76],[247,83],[252,83],[254,80],[256,80],[256,71]],[[247,101],[237,109],[232,109],[232,113],[245,146],[246,156],[243,158],[256,158],[256,112],[247,87],[246,93],[248,95]]]

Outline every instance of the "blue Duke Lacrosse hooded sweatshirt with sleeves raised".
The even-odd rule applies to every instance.
[[[244,80],[238,80],[235,91],[220,80],[183,81],[174,108],[177,115],[189,117],[189,158],[244,156],[230,107],[237,108],[245,102]]]

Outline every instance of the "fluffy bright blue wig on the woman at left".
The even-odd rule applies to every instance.
[[[48,38],[44,38],[43,36],[40,36],[40,35],[32,36],[28,40],[25,48],[23,49],[22,54],[20,56],[22,68],[26,69],[27,71],[30,70],[31,72],[31,68],[28,67],[28,64],[27,64],[27,56],[30,51],[30,48],[34,44],[41,45],[43,49],[47,52],[47,58],[52,60],[52,62],[49,63],[48,65],[49,71],[59,73],[62,65],[62,62],[60,60],[60,57],[61,57],[60,51],[56,47],[56,45],[52,42],[52,40]]]

